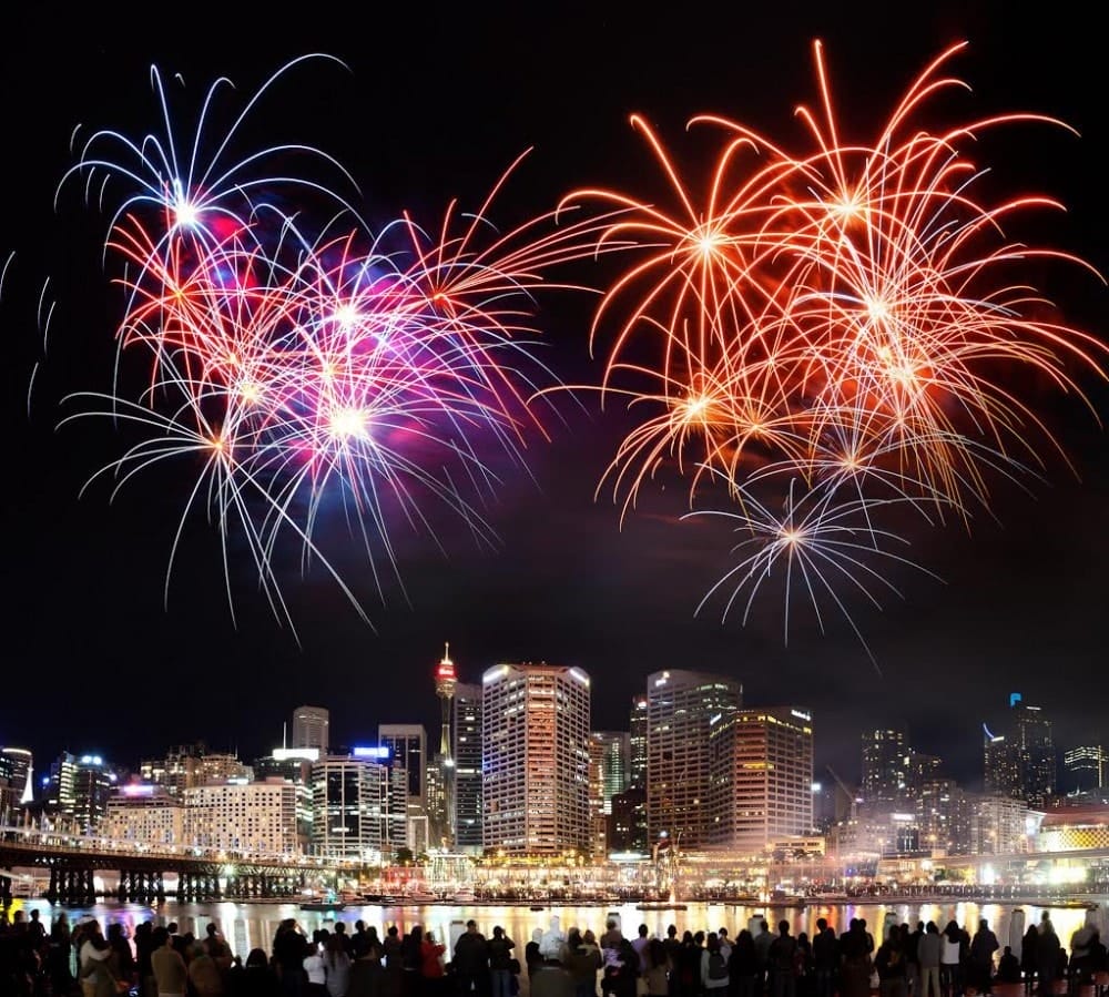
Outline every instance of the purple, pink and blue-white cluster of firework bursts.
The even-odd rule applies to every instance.
[[[304,570],[322,564],[368,621],[323,549],[325,510],[365,549],[383,600],[388,580],[404,591],[398,525],[439,543],[435,510],[446,509],[479,545],[496,543],[484,508],[500,480],[488,455],[526,470],[529,440],[546,436],[543,416],[554,411],[536,404],[558,383],[533,354],[537,297],[573,288],[548,274],[597,252],[596,218],[566,223],[552,211],[506,232],[494,225],[495,199],[523,155],[477,211],[451,203],[434,227],[401,212],[377,233],[352,193],[271,169],[295,154],[356,193],[326,153],[276,145],[234,160],[233,139],[262,98],[321,59],[337,63],[313,55],[283,67],[210,141],[213,104],[230,85],[217,81],[189,143],[174,134],[154,69],[163,133],[135,142],[98,131],[59,185],[80,182],[101,205],[124,187],[104,245],[124,301],[113,389],[71,396],[77,410],[63,423],[110,417],[139,439],[89,484],[114,478],[114,496],[164,461],[192,461],[166,598],[186,521],[200,513],[221,539],[232,616],[232,550],[243,545],[289,627],[274,568],[285,537],[299,545]],[[329,204],[325,222],[283,207],[289,190]]]

